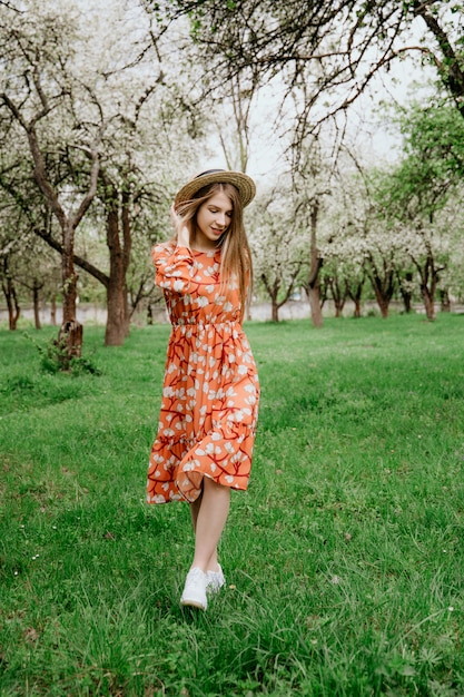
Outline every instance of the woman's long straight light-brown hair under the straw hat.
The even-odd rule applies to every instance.
[[[223,192],[230,198],[233,214],[226,233],[219,238],[220,283],[221,292],[227,294],[227,286],[231,278],[237,278],[241,304],[241,318],[249,304],[253,287],[251,252],[244,226],[244,207],[238,189],[233,184],[215,183],[199,189],[190,200],[177,206],[177,213],[190,227],[190,243],[195,244],[197,235],[197,214],[199,208],[215,194]]]

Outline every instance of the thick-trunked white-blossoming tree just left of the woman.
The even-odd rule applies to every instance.
[[[37,226],[36,233],[63,259],[71,259],[68,266],[79,266],[103,285],[108,310],[105,343],[119,345],[128,333],[130,321],[127,273],[135,220],[155,198],[165,202],[168,209],[171,181],[177,171],[185,171],[188,153],[194,150],[179,143],[182,134],[188,131],[188,121],[196,119],[197,112],[177,87],[176,61],[171,60],[169,65],[162,58],[162,52],[170,56],[172,43],[167,39],[165,43],[161,39],[154,43],[150,22],[142,10],[137,10],[135,4],[126,7],[126,3],[117,2],[106,10],[105,22],[101,22],[95,9],[89,8],[82,13],[72,2],[68,4],[71,9],[69,26],[62,19],[63,2],[58,7],[50,2],[45,14],[43,8],[38,11],[32,4],[27,6],[28,26],[36,27],[38,35],[46,33],[48,24],[56,18],[56,33],[50,39],[50,55],[45,51],[33,53],[36,35],[30,29],[27,39],[32,46],[29,51],[32,57],[27,53],[27,59],[18,48],[24,42],[20,30],[17,43],[8,39],[11,51],[18,52],[17,62],[9,67],[8,88],[21,82],[23,73],[28,75],[28,60],[38,63],[38,80],[43,81],[41,76],[47,75],[46,86],[38,82],[37,95],[32,95],[31,101],[36,97],[38,108],[41,108],[41,95],[47,96],[47,90],[52,95],[49,101],[53,102],[53,108],[43,115],[39,136],[42,170],[50,188],[55,189],[53,200],[61,200],[63,210],[82,189],[88,173],[92,173],[92,205],[85,213],[96,226],[105,226],[108,262],[99,263],[82,253],[79,237],[73,234],[72,236],[66,238],[62,233],[57,235],[56,227]],[[98,36],[89,40],[96,26]],[[4,35],[7,40],[7,28]],[[37,42],[42,47],[40,36]],[[51,73],[51,60],[60,65],[57,75]],[[4,92],[7,107],[10,105],[8,100],[12,101]],[[27,107],[21,102],[22,110]],[[21,109],[13,115],[22,118]],[[26,121],[23,125],[27,126]],[[197,125],[195,128],[198,131]],[[98,134],[99,138],[97,169],[89,132]],[[178,153],[174,161],[172,150]],[[169,176],[166,176],[167,171]],[[18,202],[18,183],[14,185],[16,189],[10,186],[10,192]],[[27,197],[22,196],[24,202]],[[52,209],[56,212],[56,207]],[[154,227],[152,223],[150,227]],[[70,293],[72,289],[76,296],[77,283],[75,273],[72,284],[63,284],[65,291]]]

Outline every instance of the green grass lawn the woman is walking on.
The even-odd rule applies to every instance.
[[[246,331],[253,479],[206,613],[188,507],[144,502],[169,328],[86,328],[98,376],[0,332],[2,697],[464,695],[464,316]]]

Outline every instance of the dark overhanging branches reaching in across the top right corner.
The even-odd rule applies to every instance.
[[[196,43],[221,80],[241,72],[261,82],[284,79],[288,96],[303,80],[309,112],[326,118],[346,109],[378,70],[406,53],[418,53],[437,75],[464,117],[464,58],[460,49],[462,12],[445,0],[165,0],[148,2],[160,22],[188,16]],[[412,41],[411,26],[421,22],[424,38]],[[322,104],[324,102],[324,104]],[[315,122],[314,117],[312,117]]]

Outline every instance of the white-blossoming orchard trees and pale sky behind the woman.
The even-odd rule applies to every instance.
[[[452,310],[464,297],[462,21],[460,3],[436,1],[1,3],[8,327],[30,306],[40,328],[47,306],[66,366],[80,304],[105,308],[107,345],[136,316],[151,322],[150,248],[170,235],[186,173],[208,163],[257,181],[247,225],[269,320],[295,297],[316,325],[329,305],[361,316],[366,301],[384,317],[392,301],[431,321],[438,303]],[[398,66],[415,76],[402,99],[383,81]],[[394,153],[368,145],[373,124]]]

